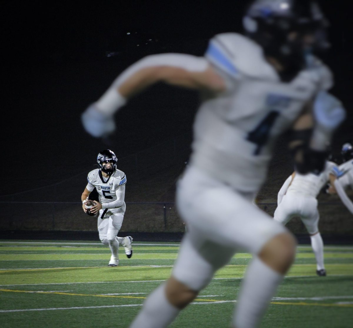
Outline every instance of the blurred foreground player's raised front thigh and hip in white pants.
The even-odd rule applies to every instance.
[[[178,183],[177,207],[188,229],[205,240],[257,254],[268,240],[287,231],[240,193],[209,182],[203,174],[192,174]]]

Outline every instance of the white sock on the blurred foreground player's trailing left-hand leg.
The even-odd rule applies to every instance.
[[[164,328],[177,317],[180,309],[168,302],[164,289],[163,282],[149,294],[130,328]]]

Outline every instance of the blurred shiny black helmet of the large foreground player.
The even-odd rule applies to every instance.
[[[284,66],[284,80],[292,79],[305,67],[308,53],[330,46],[328,21],[314,0],[255,0],[243,17],[243,26],[245,34],[263,48],[266,56]]]

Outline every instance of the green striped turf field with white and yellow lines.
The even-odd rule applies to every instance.
[[[0,241],[1,327],[128,327],[144,298],[170,275],[173,243],[133,243],[129,260],[107,266],[96,242]],[[170,326],[228,328],[249,254],[237,254]],[[268,328],[353,327],[353,247],[325,247],[326,277],[299,246],[264,317]]]

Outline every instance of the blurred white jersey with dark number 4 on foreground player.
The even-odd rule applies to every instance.
[[[291,82],[282,82],[257,43],[236,33],[211,39],[205,58],[227,90],[209,95],[194,123],[191,164],[237,190],[257,192],[277,137],[289,129],[331,73],[318,59]]]

